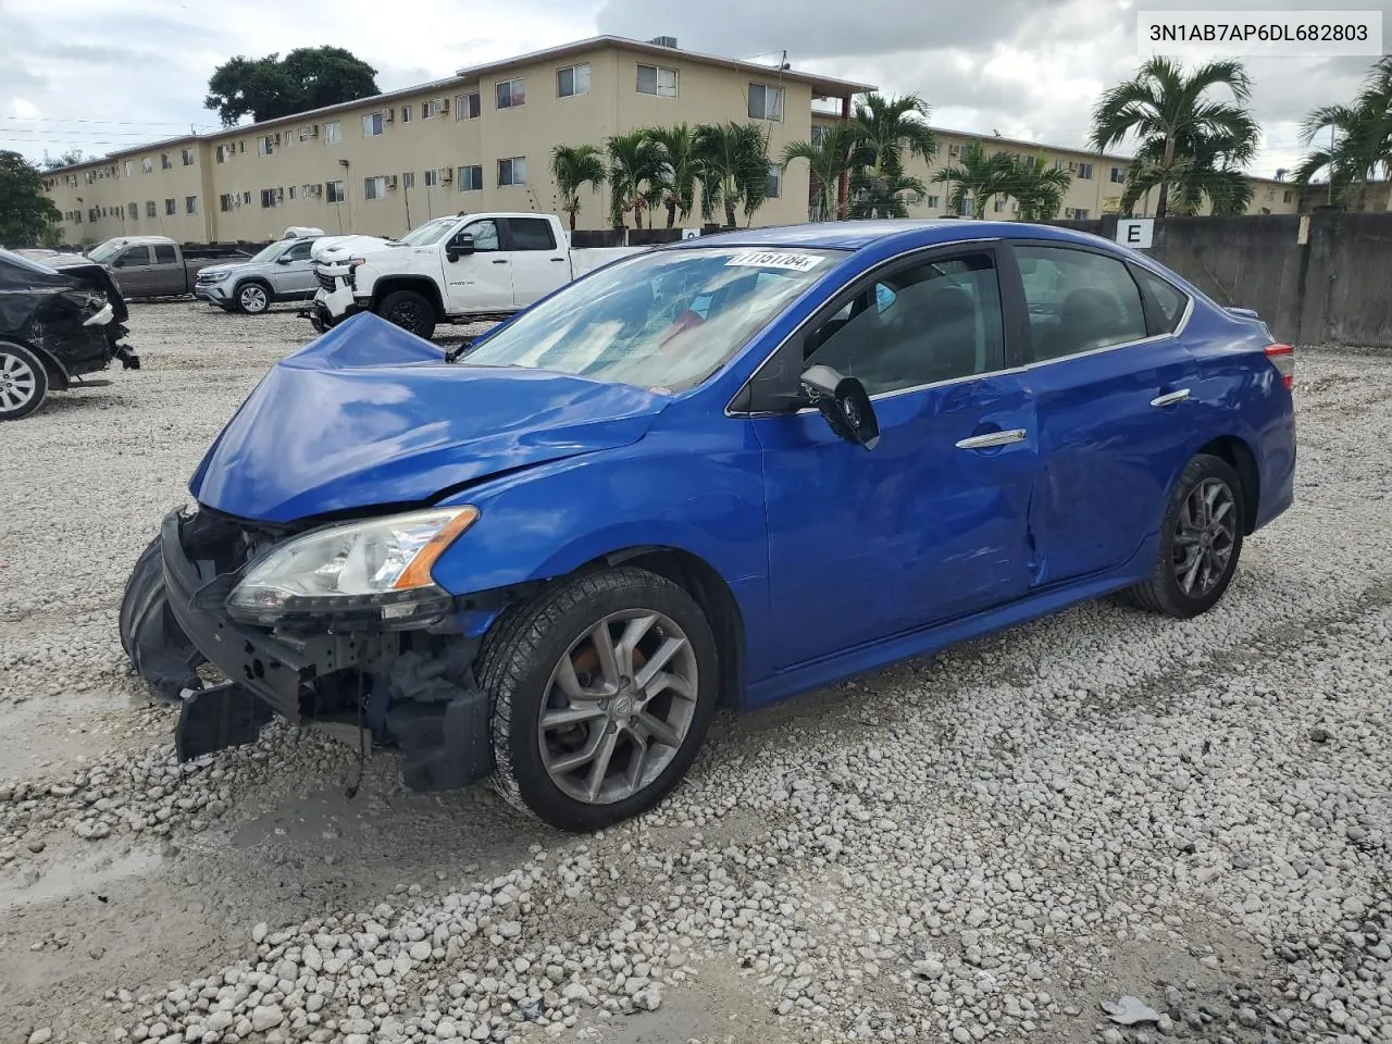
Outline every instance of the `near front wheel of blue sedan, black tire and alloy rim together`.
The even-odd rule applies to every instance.
[[[558,583],[500,621],[480,657],[494,788],[560,830],[660,802],[715,710],[715,640],[671,580],[621,567]]]

